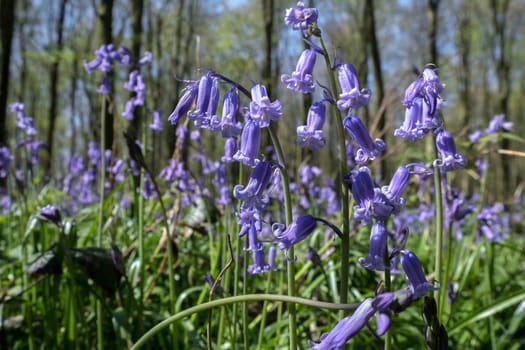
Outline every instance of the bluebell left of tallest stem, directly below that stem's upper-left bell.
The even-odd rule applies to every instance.
[[[327,143],[323,136],[323,125],[326,119],[326,107],[322,102],[315,102],[308,110],[306,125],[297,127],[297,143],[316,151]]]

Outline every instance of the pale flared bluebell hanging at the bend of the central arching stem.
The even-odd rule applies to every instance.
[[[270,125],[271,121],[279,120],[282,112],[281,102],[276,100],[270,101],[266,87],[256,84],[252,87],[252,101],[250,102],[250,117],[260,128]]]

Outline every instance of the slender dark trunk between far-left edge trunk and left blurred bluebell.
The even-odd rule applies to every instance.
[[[44,164],[44,171],[47,175],[51,173],[51,166],[53,164],[53,136],[56,126],[56,117],[58,113],[58,74],[60,65],[60,55],[63,47],[63,34],[64,34],[64,19],[66,17],[66,4],[67,0],[60,2],[60,12],[58,14],[57,22],[57,41],[56,41],[56,52],[54,61],[51,64],[51,71],[49,72],[50,82],[50,96],[49,96],[49,126],[47,129],[47,147],[48,157],[46,158],[46,164]]]

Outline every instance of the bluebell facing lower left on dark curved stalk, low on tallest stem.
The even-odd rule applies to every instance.
[[[295,219],[288,227],[274,223],[272,231],[281,250],[288,250],[293,245],[306,239],[317,227],[317,220],[310,214],[304,214]]]

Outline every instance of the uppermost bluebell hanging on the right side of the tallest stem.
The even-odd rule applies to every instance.
[[[337,108],[344,111],[366,106],[370,100],[370,90],[359,87],[355,67],[350,63],[344,63],[339,66],[337,72],[342,90],[337,100]]]

